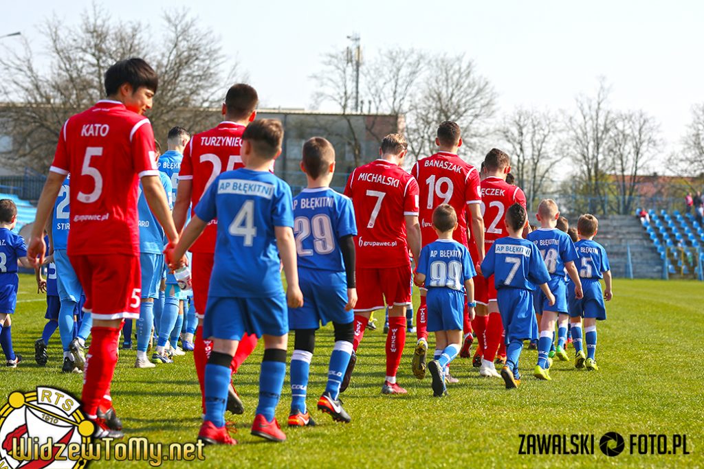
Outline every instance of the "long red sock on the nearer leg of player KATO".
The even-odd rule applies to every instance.
[[[120,328],[93,327],[83,375],[83,411],[94,418],[98,406],[110,395],[110,383],[118,363]],[[90,362],[90,366],[89,366]],[[112,405],[112,404],[111,404]]]

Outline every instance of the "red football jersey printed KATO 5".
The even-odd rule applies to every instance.
[[[158,176],[149,119],[119,101],[70,117],[49,171],[71,174],[69,255],[139,255],[137,188]]]

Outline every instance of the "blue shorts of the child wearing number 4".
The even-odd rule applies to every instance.
[[[257,337],[289,333],[283,290],[265,298],[208,297],[203,338],[240,340],[244,333]]]

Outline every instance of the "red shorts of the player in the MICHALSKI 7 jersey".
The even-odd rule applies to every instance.
[[[411,300],[410,266],[383,269],[357,268],[355,311],[375,311],[389,306],[407,306]],[[384,302],[384,299],[386,300]]]

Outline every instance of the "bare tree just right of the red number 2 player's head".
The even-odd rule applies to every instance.
[[[563,158],[556,146],[559,130],[555,115],[523,108],[505,117],[499,129],[510,148],[511,172],[529,209],[546,188],[554,165]]]

